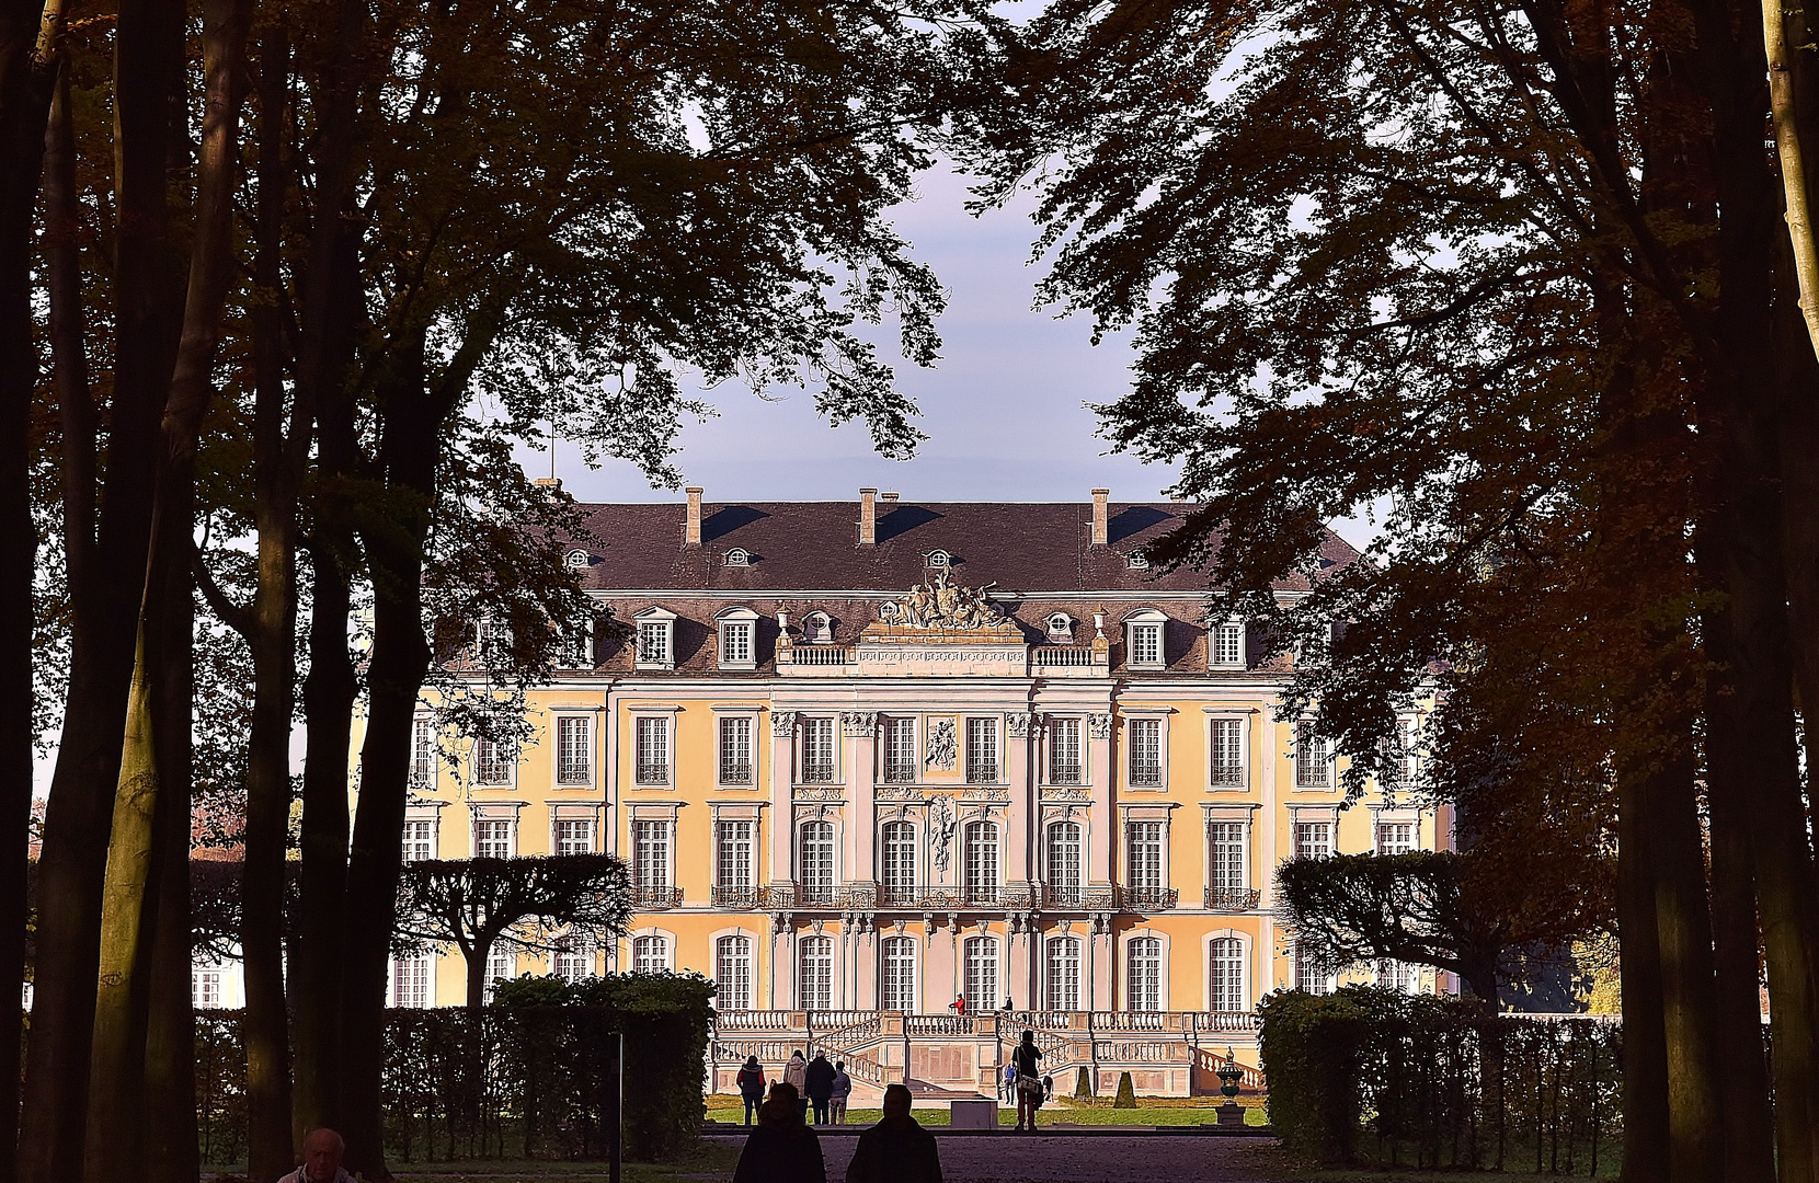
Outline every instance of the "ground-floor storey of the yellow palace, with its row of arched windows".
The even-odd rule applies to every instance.
[[[773,941],[775,947],[768,950],[773,978],[779,978],[777,969],[784,976],[766,981],[760,978],[760,954]],[[1271,981],[1270,967],[1259,959],[1268,956],[1268,949],[1259,952],[1248,934],[1211,934],[1202,939],[1204,979],[1193,998],[1179,996],[1182,983],[1173,974],[1182,967],[1171,963],[1175,941],[1162,934],[1122,934],[1115,954],[1110,934],[1039,934],[1030,941],[1037,954],[1035,965],[1013,963],[1013,941],[1019,938],[964,930],[884,930],[857,934],[857,939],[855,934],[815,930],[773,938],[735,930],[715,936],[708,963],[695,965],[678,958],[675,934],[644,929],[624,943],[624,954],[626,969],[637,972],[702,972],[715,981],[717,1007],[722,1010],[879,1009],[915,1014],[948,1010],[964,998],[970,1009],[993,1009],[1010,1001],[1015,1009],[1040,1010],[1242,1012],[1255,1007],[1257,998],[1273,985],[1290,985]],[[1028,956],[1026,945],[1024,958]],[[580,941],[568,947],[558,943],[555,952],[535,954],[498,947],[486,965],[487,989],[520,972],[582,979],[609,969],[606,958],[606,950]],[[1335,985],[1333,976],[1301,958],[1293,943],[1282,969],[1284,978],[1291,976],[1291,985],[1304,990],[1326,992]],[[460,985],[467,970],[458,956],[397,958],[391,967],[391,1005],[433,1007],[438,998],[458,998],[458,989],[437,989],[438,972],[457,974],[458,981],[451,985]],[[1432,989],[1417,967],[1397,961],[1348,974],[1352,978],[1402,992]],[[198,981],[198,1005],[207,1005],[202,1001],[211,998],[206,990]]]

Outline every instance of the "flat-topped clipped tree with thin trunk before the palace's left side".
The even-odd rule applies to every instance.
[[[557,949],[558,936],[589,943],[624,936],[631,876],[611,854],[424,860],[398,880],[404,947],[455,945],[467,961],[467,1009],[486,1003],[486,961],[498,943]]]

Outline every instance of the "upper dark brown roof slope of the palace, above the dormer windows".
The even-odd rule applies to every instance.
[[[700,545],[684,542],[686,507],[669,503],[580,505],[597,542],[586,543],[584,587],[600,591],[784,591],[902,592],[928,578],[931,551],[951,554],[957,583],[997,583],[999,592],[1206,591],[1201,571],[1133,569],[1130,556],[1179,527],[1184,502],[1113,502],[1106,545],[1091,543],[1091,503],[1070,502],[879,502],[877,542],[859,542],[857,502],[708,502]],[[746,565],[728,565],[733,549]],[[1337,569],[1359,552],[1332,531],[1321,565]],[[1304,591],[1302,576],[1277,583]]]

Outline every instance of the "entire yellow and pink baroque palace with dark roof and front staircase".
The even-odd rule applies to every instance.
[[[489,976],[698,970],[719,1087],[813,1039],[860,1087],[968,1090],[1024,1025],[1070,1083],[1217,1087],[1211,1058],[1255,1063],[1259,996],[1332,985],[1271,916],[1275,865],[1444,847],[1450,820],[1341,809],[1322,741],[1277,720],[1286,669],[1199,574],[1150,571],[1190,509],[589,505],[564,562],[624,629],[569,638],[522,751],[426,714],[406,854],[622,856],[617,947]],[[1328,534],[1321,562],[1359,556]],[[393,1001],[457,1005],[464,972],[397,961]]]

